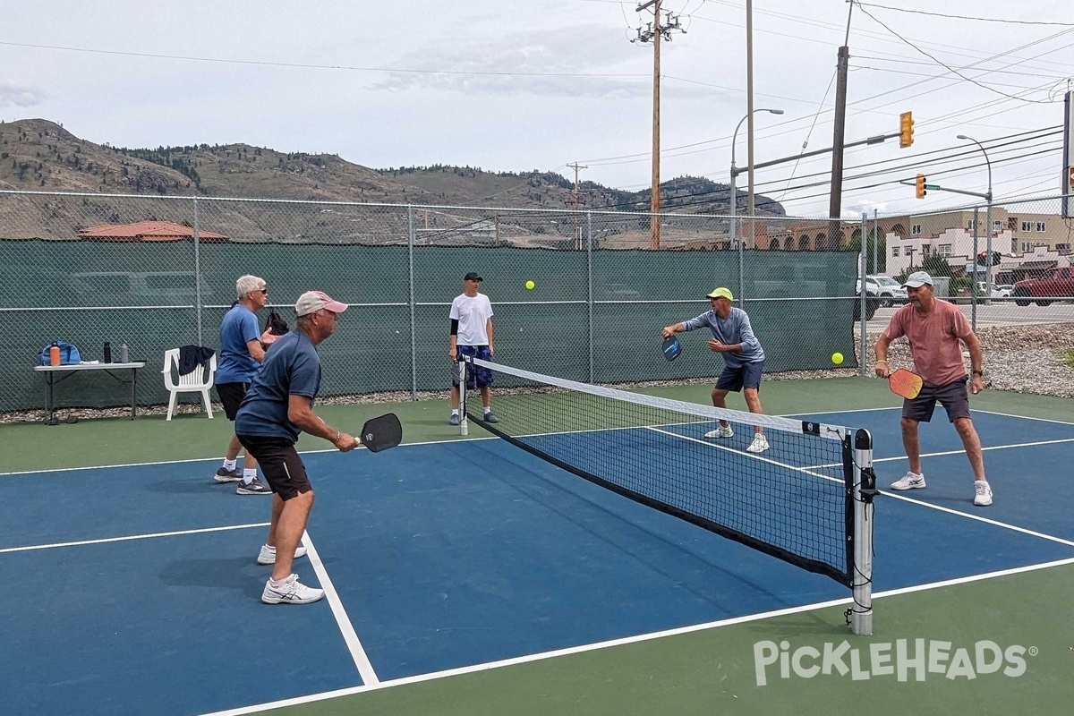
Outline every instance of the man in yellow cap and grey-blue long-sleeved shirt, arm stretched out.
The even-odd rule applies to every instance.
[[[712,331],[712,338],[709,339],[709,350],[714,353],[722,353],[724,356],[724,370],[716,380],[716,386],[712,389],[712,405],[717,408],[727,407],[727,393],[730,391],[742,391],[742,397],[750,408],[750,412],[764,412],[760,407],[760,375],[765,369],[765,349],[760,347],[760,341],[753,335],[753,327],[750,325],[750,317],[741,308],[731,306],[735,296],[730,289],[721,287],[708,294],[706,298],[712,305],[712,310],[701,313],[697,318],[692,318],[682,323],[664,326],[665,338],[671,337],[676,333],[684,331],[696,331],[708,327]],[[768,450],[768,438],[760,425],[753,428],[753,442],[746,448],[746,452],[761,453]],[[726,420],[720,421],[720,427],[705,434],[707,438],[731,438],[735,430]]]

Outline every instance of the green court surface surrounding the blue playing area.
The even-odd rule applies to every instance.
[[[330,369],[331,366],[326,366]],[[711,385],[692,384],[645,389],[665,397],[708,403]],[[766,412],[773,414],[845,412],[896,407],[900,400],[886,383],[871,378],[764,383]],[[495,400],[495,398],[494,398]],[[985,392],[972,400],[974,410],[1074,422],[1074,400],[1011,393]],[[743,409],[741,397],[730,408]],[[331,424],[352,430],[368,418],[395,411],[406,442],[462,439],[447,424],[446,399],[404,404],[322,406],[320,414]],[[5,472],[25,472],[102,465],[142,464],[218,458],[230,436],[230,423],[204,414],[88,420],[48,427],[43,424],[0,426]],[[942,415],[941,415],[942,418]],[[892,423],[898,412],[890,411]],[[485,434],[471,428],[470,439]],[[300,450],[328,450],[329,443],[304,437]],[[987,445],[985,445],[987,448]],[[950,450],[960,450],[952,444]],[[897,447],[895,452],[901,451]],[[890,452],[890,451],[889,451]],[[986,464],[988,454],[986,453]],[[903,469],[904,464],[890,468]],[[967,468],[968,469],[968,468]],[[316,485],[317,476],[311,476]],[[1003,476],[990,476],[998,499],[1004,495]],[[90,478],[88,478],[90,479]],[[1056,474],[1070,492],[1070,470]],[[882,485],[886,488],[886,484]],[[102,485],[106,488],[106,485]],[[28,482],[28,489],[32,483]],[[17,509],[8,505],[6,509]],[[883,498],[876,520],[884,520]],[[267,516],[267,510],[266,510]],[[987,514],[985,514],[987,517]],[[311,524],[316,523],[314,511]],[[719,539],[719,538],[713,538]],[[937,550],[952,545],[937,544]],[[958,545],[968,549],[967,545]],[[877,551],[898,550],[877,544]],[[987,553],[989,544],[971,545]],[[1072,550],[1074,554],[1074,550]],[[286,716],[382,714],[404,716],[548,715],[548,714],[1065,714],[1074,698],[1074,557],[1033,565],[1024,570],[981,574],[947,584],[874,598],[874,634],[854,637],[842,619],[842,608],[826,604],[756,615],[729,624],[698,625],[672,633],[649,634],[622,642],[594,644],[564,653],[532,655],[509,662],[482,664],[439,674],[427,674],[347,692],[317,695],[296,703],[260,704],[229,714],[271,713]],[[295,618],[301,618],[296,610]],[[240,637],[241,638],[241,637]],[[948,653],[935,671],[911,667],[905,678],[898,673],[865,677],[873,656],[890,655],[906,640],[913,656],[916,640],[926,649]],[[846,647],[841,647],[843,642]],[[845,648],[837,661],[847,673],[802,675],[789,668],[781,675],[779,660],[758,678],[757,649],[769,643],[783,648],[789,662],[802,647],[817,654]],[[944,642],[949,642],[944,646]],[[995,643],[1005,655],[999,671],[991,672],[975,649]],[[986,646],[987,648],[987,646]],[[967,661],[956,653],[964,649]],[[1018,651],[1021,649],[1021,651]],[[852,656],[856,653],[856,657]],[[874,654],[875,653],[875,654]],[[811,653],[812,654],[812,653]],[[985,655],[985,661],[991,657]],[[855,662],[855,658],[857,661]],[[779,659],[779,656],[777,656]],[[814,660],[804,659],[803,669]],[[956,667],[958,662],[959,668]],[[821,659],[815,659],[819,664]],[[857,663],[859,668],[855,668]],[[879,661],[876,663],[882,663]],[[967,666],[969,664],[969,666]],[[1005,674],[1004,668],[1012,670]],[[915,674],[920,672],[923,681]],[[926,673],[927,672],[927,673]],[[978,673],[979,672],[979,673]],[[804,672],[803,672],[804,673]],[[236,677],[241,669],[236,664]],[[259,677],[271,678],[263,674]],[[221,712],[224,713],[224,712]]]

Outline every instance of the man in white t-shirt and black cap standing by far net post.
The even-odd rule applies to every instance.
[[[459,355],[469,355],[482,361],[492,361],[492,304],[489,296],[478,293],[482,278],[474,272],[463,277],[465,291],[451,302],[451,335],[448,337],[448,355],[458,361]],[[499,419],[492,412],[492,370],[481,366],[467,366],[466,388],[478,388],[481,391],[481,405],[484,406],[484,421],[498,423]],[[458,425],[459,417],[459,381],[451,385],[451,419],[452,425]]]

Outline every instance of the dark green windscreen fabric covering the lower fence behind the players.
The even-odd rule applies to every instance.
[[[216,348],[244,274],[265,279],[271,306],[292,326],[303,291],[351,304],[319,347],[326,396],[445,390],[448,308],[469,271],[483,276],[493,304],[496,356],[538,372],[601,383],[715,376],[723,362],[703,332],[683,336],[682,357],[667,363],[659,330],[708,310],[705,294],[717,286],[745,298],[766,370],[829,367],[834,351],[851,367],[856,260],[751,250],[740,281],[734,251],[219,243],[195,255],[189,240],[0,239],[0,411],[43,405],[32,367],[53,340],[78,346],[84,360],[100,360],[104,341],[118,357],[126,342],[132,359],[147,362],[139,404],[165,403],[164,351]],[[79,374],[56,398],[122,406],[129,393],[107,376]]]

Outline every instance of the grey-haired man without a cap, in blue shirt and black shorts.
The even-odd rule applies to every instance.
[[[238,406],[246,396],[246,389],[265,357],[265,348],[276,338],[271,331],[262,334],[258,327],[257,312],[268,303],[268,289],[265,288],[264,279],[259,276],[241,276],[235,281],[235,293],[238,299],[224,313],[220,323],[220,353],[213,381],[216,394],[223,405],[223,412],[230,421],[235,420]],[[271,495],[272,491],[258,480],[258,462],[249,452],[246,453],[243,470],[238,470],[236,463],[241,449],[238,438],[232,434],[223,465],[213,479],[217,482],[237,482],[235,493],[238,495]]]

